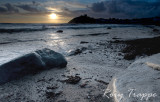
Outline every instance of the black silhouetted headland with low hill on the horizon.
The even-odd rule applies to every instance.
[[[87,15],[75,17],[69,24],[142,24],[160,26],[160,17],[138,18],[138,19],[118,19],[118,18],[92,18]]]

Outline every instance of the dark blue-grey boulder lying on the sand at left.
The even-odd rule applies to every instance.
[[[50,49],[37,50],[0,66],[0,84],[18,79],[27,74],[55,67],[65,67],[67,61],[63,55]]]

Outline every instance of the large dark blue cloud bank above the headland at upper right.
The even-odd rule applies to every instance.
[[[145,0],[111,0],[93,3],[92,16],[115,18],[142,18],[160,16],[160,2]]]

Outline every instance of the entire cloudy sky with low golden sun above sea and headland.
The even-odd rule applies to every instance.
[[[95,18],[160,16],[160,0],[0,0],[0,23],[67,23]]]

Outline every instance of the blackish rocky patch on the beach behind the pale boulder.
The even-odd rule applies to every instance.
[[[136,56],[156,54],[160,52],[160,37],[142,38],[134,40],[116,40],[112,43],[126,44],[127,46],[122,49],[125,53],[124,59],[132,60]]]

